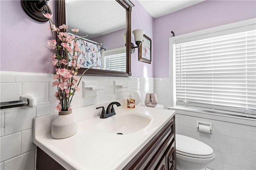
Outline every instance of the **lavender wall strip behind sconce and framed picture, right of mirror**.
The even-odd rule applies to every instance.
[[[137,0],[132,0],[135,5],[132,8],[132,30],[134,29],[144,29],[145,35],[150,37],[152,42],[154,42],[154,18],[148,14],[148,12],[142,7],[142,5]],[[132,42],[134,42],[134,37],[132,34]],[[152,44],[152,62],[151,64],[138,61],[138,49],[132,54],[132,76],[134,77],[154,77],[154,44]]]

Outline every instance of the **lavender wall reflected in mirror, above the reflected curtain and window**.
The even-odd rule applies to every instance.
[[[92,41],[102,43],[102,48],[105,48],[106,50],[125,47],[124,38],[122,37],[122,33],[125,33],[125,31],[125,28],[120,29],[112,33],[92,38]]]

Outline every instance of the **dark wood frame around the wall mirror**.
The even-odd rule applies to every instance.
[[[134,4],[130,0],[116,0],[126,10],[126,44],[131,44],[131,16]],[[57,26],[66,24],[65,0],[56,0],[56,24]],[[120,35],[121,36],[121,35]],[[89,69],[85,72],[87,75],[101,76],[132,76],[131,72],[131,46],[126,45],[126,72]],[[80,68],[78,73],[82,74],[86,68]]]

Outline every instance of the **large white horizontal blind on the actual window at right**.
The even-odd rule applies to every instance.
[[[256,31],[175,44],[176,106],[256,117]]]

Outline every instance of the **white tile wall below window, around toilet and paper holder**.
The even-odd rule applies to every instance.
[[[168,108],[169,78],[155,78],[158,104]],[[176,133],[208,144],[216,154],[208,168],[213,170],[256,170],[256,121],[253,125],[232,122],[223,117],[208,119],[176,111]],[[197,131],[196,121],[212,123],[212,134]],[[244,121],[240,121],[244,122]]]

